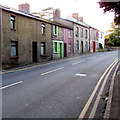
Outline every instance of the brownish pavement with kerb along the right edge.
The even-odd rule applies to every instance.
[[[113,74],[104,118],[120,120],[120,64]]]

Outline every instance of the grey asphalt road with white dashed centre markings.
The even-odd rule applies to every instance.
[[[100,52],[2,74],[3,118],[78,118],[118,51]]]

